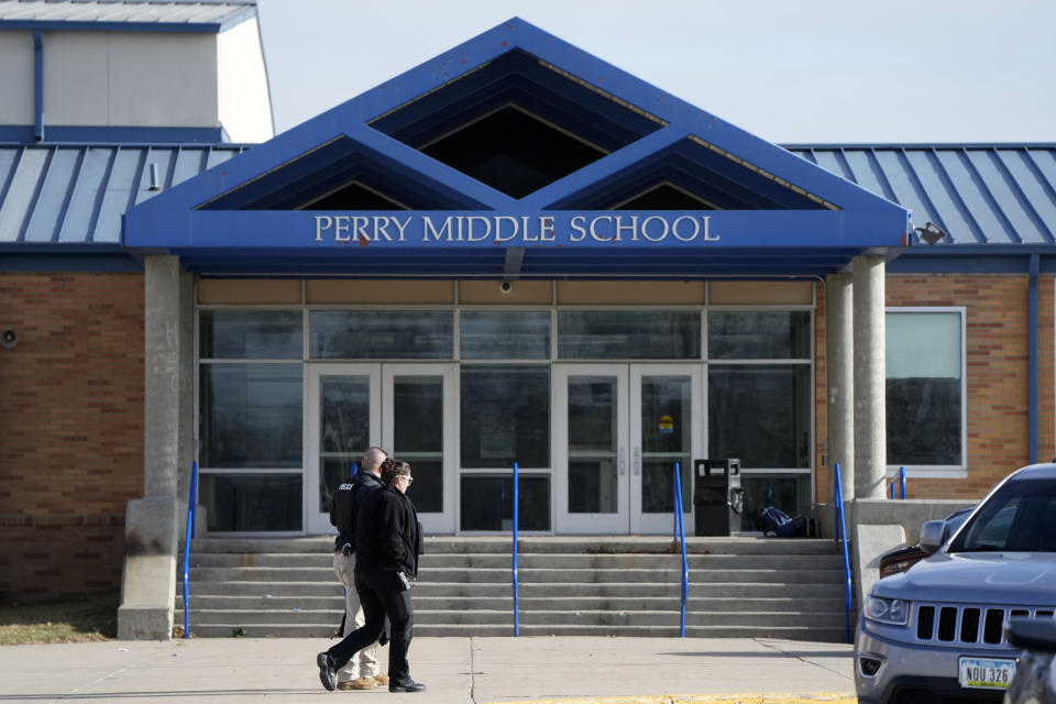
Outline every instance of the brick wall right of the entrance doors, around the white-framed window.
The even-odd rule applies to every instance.
[[[887,305],[965,307],[967,345],[968,476],[911,479],[908,498],[981,498],[1009,472],[1027,463],[1027,289],[1026,276],[889,275]],[[1038,460],[1054,447],[1054,278],[1038,279]],[[824,287],[818,287],[824,301]],[[829,469],[821,465],[827,435],[824,415],[824,310],[817,312],[817,501],[832,495]]]

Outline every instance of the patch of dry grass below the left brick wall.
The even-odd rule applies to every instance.
[[[117,634],[117,594],[0,606],[0,646],[108,640]]]

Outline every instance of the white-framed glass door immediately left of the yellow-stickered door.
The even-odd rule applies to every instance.
[[[557,366],[553,388],[558,531],[626,535],[627,365]]]

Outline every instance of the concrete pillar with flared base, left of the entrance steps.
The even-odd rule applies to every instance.
[[[180,317],[187,297],[179,257],[148,255],[143,267],[143,498],[129,502],[125,514],[118,637],[167,640],[176,590],[180,420],[190,397],[180,378],[194,355],[185,356],[189,348]]]

